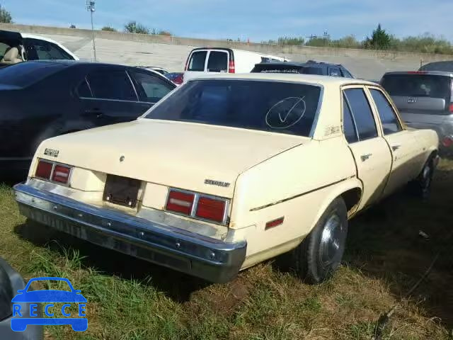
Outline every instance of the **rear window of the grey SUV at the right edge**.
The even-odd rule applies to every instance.
[[[391,96],[442,98],[449,102],[451,79],[430,74],[388,74],[382,86]]]

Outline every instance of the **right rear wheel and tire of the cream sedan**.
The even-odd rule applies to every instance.
[[[348,211],[343,198],[328,206],[314,229],[292,251],[297,276],[309,284],[330,278],[340,266],[348,234]]]

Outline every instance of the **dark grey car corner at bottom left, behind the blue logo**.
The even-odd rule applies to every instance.
[[[11,329],[13,319],[13,302],[11,301],[18,290],[25,288],[21,275],[0,257],[0,339],[8,340],[38,340],[43,339],[41,325],[31,325],[25,331],[16,332]],[[21,302],[23,310],[30,310],[29,302]],[[38,309],[38,317],[41,312]]]

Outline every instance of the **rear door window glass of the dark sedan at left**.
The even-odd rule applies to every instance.
[[[89,74],[88,84],[94,98],[137,101],[134,87],[125,71],[102,71]]]

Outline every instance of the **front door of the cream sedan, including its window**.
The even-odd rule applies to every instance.
[[[368,89],[372,98],[370,101],[374,103],[374,110],[381,120],[382,135],[390,146],[393,158],[391,174],[384,191],[384,195],[388,195],[418,175],[418,157],[422,150],[413,133],[403,129],[386,94],[377,87],[369,86]]]

